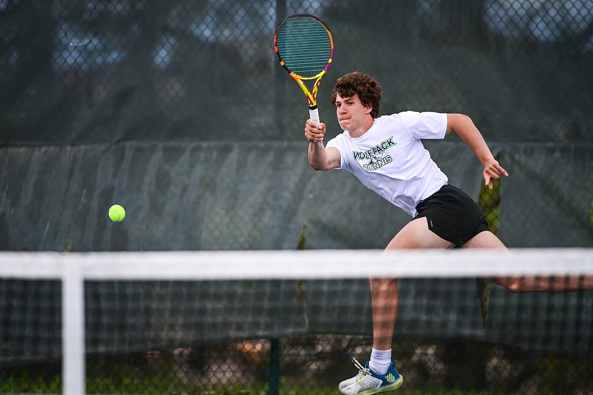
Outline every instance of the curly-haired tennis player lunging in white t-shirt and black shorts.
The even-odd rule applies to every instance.
[[[305,124],[310,142],[308,158],[314,170],[346,169],[368,188],[412,216],[390,241],[385,251],[453,247],[506,249],[489,230],[482,209],[432,161],[420,139],[443,139],[451,133],[475,152],[484,166],[483,177],[508,176],[490,152],[470,117],[463,114],[401,112],[379,116],[381,87],[374,78],[353,72],[337,79],[331,94],[343,133],[326,146],[326,126]],[[495,278],[490,281],[512,292],[561,292],[593,289],[591,279]],[[587,281],[585,283],[585,281]],[[371,279],[373,348],[370,361],[359,373],[342,381],[343,394],[375,394],[399,388],[403,377],[391,360],[391,342],[397,319],[397,279]]]

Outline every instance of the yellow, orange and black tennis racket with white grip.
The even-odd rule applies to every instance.
[[[276,29],[274,49],[280,65],[307,96],[311,120],[319,125],[317,90],[333,58],[333,37],[329,28],[313,15],[290,15]],[[315,78],[317,81],[309,91],[303,80]]]

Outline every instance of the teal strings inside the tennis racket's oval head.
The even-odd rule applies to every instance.
[[[289,21],[280,27],[276,39],[284,66],[303,78],[323,72],[331,59],[331,37],[317,21]]]

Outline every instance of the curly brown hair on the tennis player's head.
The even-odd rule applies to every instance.
[[[336,81],[331,92],[331,105],[336,106],[336,94],[340,97],[352,97],[357,94],[363,106],[372,106],[371,116],[377,118],[381,109],[381,85],[361,71],[346,74]]]

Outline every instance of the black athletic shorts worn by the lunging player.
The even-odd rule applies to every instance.
[[[455,244],[466,244],[480,232],[489,231],[488,221],[480,206],[458,187],[446,184],[416,205],[414,219],[425,217],[428,228]]]

